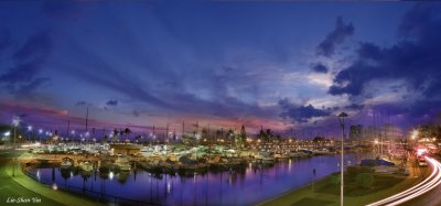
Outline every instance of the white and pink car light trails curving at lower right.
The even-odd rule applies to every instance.
[[[433,167],[432,173],[421,183],[385,199],[372,203],[367,206],[388,205],[395,206],[418,197],[441,184],[441,163],[426,156],[426,161]]]

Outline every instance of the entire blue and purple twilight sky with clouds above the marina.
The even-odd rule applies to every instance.
[[[441,110],[438,2],[0,2],[0,122],[404,129]]]

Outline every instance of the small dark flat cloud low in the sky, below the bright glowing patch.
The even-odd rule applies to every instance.
[[[290,102],[288,99],[279,101],[279,106],[282,108],[280,117],[283,119],[290,119],[293,122],[308,122],[314,117],[327,117],[331,111],[324,109],[314,108],[312,105],[299,106]]]

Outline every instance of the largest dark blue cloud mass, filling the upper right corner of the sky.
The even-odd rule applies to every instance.
[[[420,106],[439,109],[440,12],[440,4],[416,4],[402,18],[398,28],[401,37],[396,44],[379,46],[368,42],[359,43],[355,61],[335,76],[329,93],[363,98],[370,90],[368,86],[372,83],[404,80],[407,90],[421,95],[418,102],[405,102],[406,106],[420,115],[427,113],[423,109],[417,109]],[[402,102],[396,107],[404,107]]]

